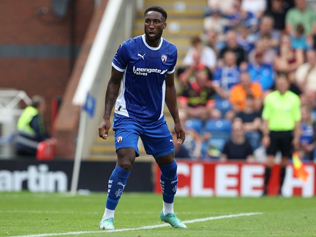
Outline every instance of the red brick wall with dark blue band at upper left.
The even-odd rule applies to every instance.
[[[53,13],[52,0],[1,0],[0,88],[24,90],[30,97],[43,95],[47,104],[45,124],[53,135],[51,102],[57,97],[64,100],[76,57],[97,9],[94,2],[73,0],[67,15],[61,18]]]

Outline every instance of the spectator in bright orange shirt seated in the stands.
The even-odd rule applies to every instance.
[[[240,82],[234,85],[230,93],[230,102],[235,112],[243,111],[246,107],[246,97],[251,94],[255,99],[255,109],[262,107],[263,91],[260,83],[252,82],[247,72],[240,74]]]

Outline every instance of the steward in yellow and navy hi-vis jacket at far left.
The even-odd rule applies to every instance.
[[[32,97],[32,104],[25,108],[18,119],[15,147],[18,156],[35,159],[40,142],[46,141],[51,145],[56,144],[56,140],[50,137],[44,125],[45,109],[44,97],[35,95]]]

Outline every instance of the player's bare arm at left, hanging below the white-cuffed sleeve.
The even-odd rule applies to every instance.
[[[119,72],[112,67],[111,78],[108,83],[107,91],[105,94],[105,105],[103,121],[99,126],[99,136],[103,139],[107,139],[108,132],[111,127],[110,117],[113,110],[113,106],[118,98],[120,81],[123,78],[123,72]]]

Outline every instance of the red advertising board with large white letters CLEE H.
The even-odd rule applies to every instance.
[[[264,163],[178,160],[177,164],[179,177],[177,196],[260,197],[262,195]],[[316,195],[316,164],[306,163],[305,167],[309,172],[306,182],[294,177],[292,164],[286,167],[282,188],[284,197]],[[278,164],[272,169],[268,195],[278,194],[279,170]],[[155,173],[155,192],[161,193],[158,165]]]

